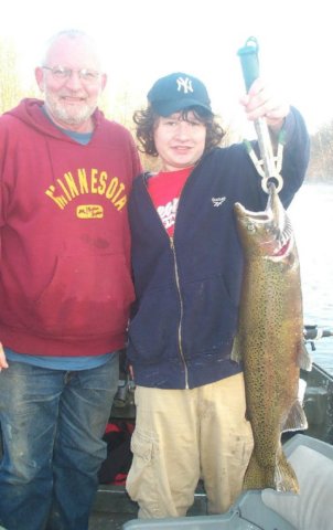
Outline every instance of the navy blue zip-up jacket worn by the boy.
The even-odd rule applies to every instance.
[[[309,161],[309,137],[292,109],[280,198],[291,202]],[[266,208],[267,194],[245,147],[215,148],[197,163],[180,198],[170,240],[139,176],[129,200],[137,301],[128,359],[142,386],[186,389],[241,371],[230,360],[237,328],[243,253],[234,204]]]

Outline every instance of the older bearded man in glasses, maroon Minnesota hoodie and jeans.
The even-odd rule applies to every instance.
[[[44,100],[0,118],[0,524],[85,530],[133,300],[140,162],[97,108],[88,35],[55,35],[35,77]]]

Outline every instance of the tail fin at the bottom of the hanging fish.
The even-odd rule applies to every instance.
[[[287,460],[282,449],[276,456],[275,466],[260,466],[255,451],[244,476],[243,489],[266,489],[298,494],[299,483],[296,473]]]

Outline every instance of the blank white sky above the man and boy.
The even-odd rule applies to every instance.
[[[175,71],[208,87],[217,114],[239,112],[244,91],[237,50],[260,45],[261,74],[305,116],[309,128],[333,117],[332,18],[316,0],[0,0],[0,35],[18,46],[26,76],[53,33],[78,28],[100,41],[109,89],[144,98]]]

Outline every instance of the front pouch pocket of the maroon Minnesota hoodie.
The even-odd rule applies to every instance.
[[[122,254],[60,256],[34,303],[32,327],[61,337],[122,333],[133,298]]]

